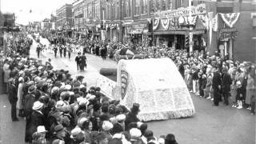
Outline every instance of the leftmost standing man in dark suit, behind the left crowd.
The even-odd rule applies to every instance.
[[[17,89],[15,86],[15,79],[14,78],[10,78],[10,86],[9,86],[9,92],[8,92],[8,99],[11,105],[11,119],[13,120],[13,122],[18,121],[17,118],[17,112],[16,112],[16,105],[17,105],[17,101],[18,101],[18,97],[17,97]]]

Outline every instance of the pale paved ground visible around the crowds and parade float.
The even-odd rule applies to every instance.
[[[34,47],[31,56],[34,57]],[[57,69],[70,70],[71,74],[83,74],[89,80],[96,76],[101,67],[115,67],[115,62],[102,61],[101,58],[87,54],[89,62],[86,72],[79,72],[75,68],[74,56],[72,61],[64,58],[53,58],[52,54],[45,54],[53,59]],[[43,61],[46,57],[41,58]],[[93,78],[92,78],[93,79]],[[89,80],[90,81],[90,80]],[[156,136],[175,134],[181,144],[254,144],[255,143],[255,116],[249,110],[238,110],[230,106],[212,106],[210,100],[198,98],[191,94],[196,114],[192,118],[171,119],[168,121],[148,122],[150,130]],[[10,121],[10,104],[6,95],[0,96],[1,103],[1,140],[3,144],[22,144],[24,139],[25,122]]]

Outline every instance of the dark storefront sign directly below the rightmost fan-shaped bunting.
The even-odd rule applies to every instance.
[[[232,29],[220,29],[218,38],[220,40],[230,39],[230,38],[237,38],[237,32],[238,30],[236,28]]]

